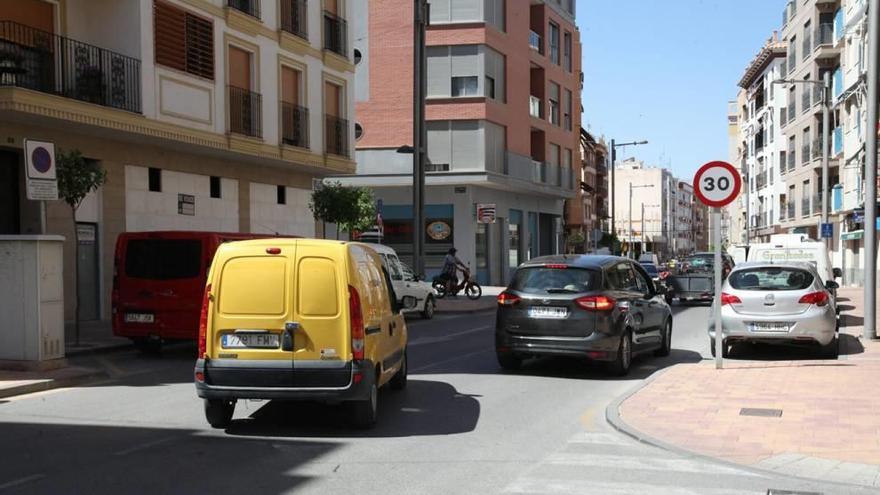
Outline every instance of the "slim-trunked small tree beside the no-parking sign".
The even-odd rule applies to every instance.
[[[76,228],[76,210],[92,191],[107,181],[107,172],[95,160],[84,157],[79,150],[59,150],[55,155],[58,195],[70,207],[70,218],[73,221],[73,252],[74,279],[73,289],[76,294],[76,345],[79,345],[79,233]]]

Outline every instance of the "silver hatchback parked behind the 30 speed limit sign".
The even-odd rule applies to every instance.
[[[837,359],[837,314],[833,281],[822,279],[811,263],[749,262],[736,265],[721,293],[724,356],[734,342],[807,344]],[[709,337],[715,355],[715,311]]]

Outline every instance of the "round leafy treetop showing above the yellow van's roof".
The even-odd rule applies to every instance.
[[[343,186],[339,182],[324,184],[312,193],[309,208],[315,220],[336,224],[337,239],[340,230],[350,234],[367,230],[376,222],[373,192],[366,187]]]

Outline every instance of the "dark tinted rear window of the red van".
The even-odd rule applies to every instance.
[[[125,275],[147,280],[198,277],[202,241],[198,239],[132,239],[125,248]]]

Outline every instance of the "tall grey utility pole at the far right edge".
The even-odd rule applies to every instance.
[[[877,338],[877,103],[880,96],[880,0],[868,3],[868,130],[865,139],[864,337]]]

